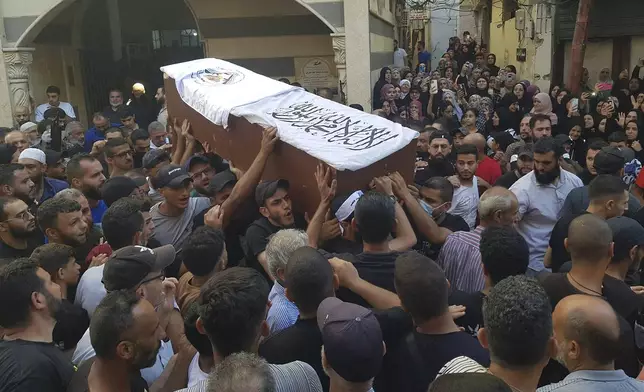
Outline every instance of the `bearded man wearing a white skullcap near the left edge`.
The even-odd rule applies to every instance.
[[[29,178],[35,185],[33,197],[38,200],[38,204],[42,204],[45,200],[54,197],[56,193],[67,189],[68,185],[65,181],[45,177],[47,156],[44,151],[28,148],[20,153],[18,163],[25,166]]]

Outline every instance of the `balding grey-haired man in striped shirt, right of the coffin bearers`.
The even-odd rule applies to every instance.
[[[485,287],[481,268],[481,233],[490,226],[511,226],[517,219],[519,202],[502,187],[487,190],[479,203],[480,224],[474,231],[450,234],[438,255],[437,263],[445,271],[452,289],[473,293]]]

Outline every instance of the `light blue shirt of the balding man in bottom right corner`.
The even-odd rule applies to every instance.
[[[623,370],[578,370],[563,381],[546,385],[537,392],[637,392],[644,391],[644,381],[630,378]]]

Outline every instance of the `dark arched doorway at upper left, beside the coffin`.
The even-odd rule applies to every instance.
[[[92,113],[108,104],[111,88],[123,90],[127,100],[132,84],[141,82],[152,98],[163,84],[161,66],[204,56],[197,22],[184,0],[164,0],[162,5],[157,0],[78,0],[59,11],[31,46],[36,47],[34,98],[38,101],[44,85],[60,84],[55,77],[46,80],[55,70],[36,63],[60,46],[57,57],[66,85],[61,89],[68,96],[75,91],[77,101],[82,95],[83,102],[73,103],[88,123]]]

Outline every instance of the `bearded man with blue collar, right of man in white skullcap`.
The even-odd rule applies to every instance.
[[[105,183],[101,162],[89,154],[73,156],[67,163],[67,182],[85,195],[94,224],[100,224],[107,210],[107,205],[101,200],[101,187]]]

